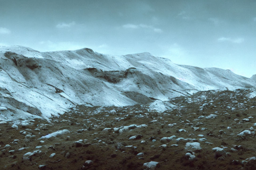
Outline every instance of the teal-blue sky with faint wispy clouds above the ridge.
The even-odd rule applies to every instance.
[[[254,0],[0,0],[0,45],[103,54],[256,74]]]

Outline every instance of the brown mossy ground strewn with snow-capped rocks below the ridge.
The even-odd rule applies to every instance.
[[[251,90],[0,122],[0,169],[256,169]]]

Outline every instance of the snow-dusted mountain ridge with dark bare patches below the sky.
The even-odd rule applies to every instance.
[[[150,53],[113,56],[84,48],[0,47],[0,120],[50,117],[77,104],[125,106],[202,90],[251,88],[230,70],[177,65]]]

